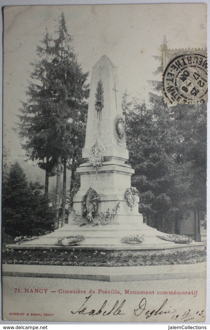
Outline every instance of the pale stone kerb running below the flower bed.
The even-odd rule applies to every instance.
[[[2,265],[3,276],[68,278],[94,281],[146,281],[206,278],[206,262],[162,266],[46,266]]]

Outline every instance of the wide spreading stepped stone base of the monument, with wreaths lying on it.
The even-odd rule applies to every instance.
[[[99,250],[109,251],[115,254],[124,251],[132,254],[157,254],[172,253],[176,250],[184,249],[204,249],[205,244],[192,242],[191,244],[175,244],[174,242],[164,241],[157,235],[166,235],[155,228],[146,224],[138,224],[139,229],[123,228],[119,231],[119,225],[111,224],[106,226],[95,226],[92,229],[90,225],[79,227],[77,224],[66,224],[64,227],[55,230],[53,233],[41,236],[39,239],[21,243],[20,245],[8,245],[7,248],[13,249],[56,249],[56,250]],[[84,227],[87,227],[84,230]],[[94,227],[94,228],[95,228]],[[112,229],[110,229],[112,228]],[[114,229],[113,229],[114,228]],[[128,235],[144,235],[144,241],[141,244],[127,244],[121,242],[121,239]],[[57,245],[57,240],[65,236],[84,235],[85,240],[78,245],[65,247]],[[132,252],[130,252],[132,251]]]

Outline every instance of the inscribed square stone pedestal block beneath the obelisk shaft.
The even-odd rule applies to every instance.
[[[124,160],[125,161],[125,160]],[[105,212],[116,207],[120,202],[118,215],[131,215],[130,208],[126,205],[124,198],[126,188],[131,186],[131,175],[134,170],[130,165],[124,164],[122,159],[112,159],[104,161],[99,167],[98,177],[96,176],[96,168],[91,163],[84,163],[77,169],[80,174],[81,186],[74,196],[74,210],[81,214],[82,198],[89,187],[96,190],[100,196],[99,212]],[[138,204],[135,205],[132,215],[142,215],[138,213]]]

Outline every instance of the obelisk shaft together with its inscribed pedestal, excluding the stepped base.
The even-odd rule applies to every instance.
[[[90,161],[90,149],[97,148],[98,143],[104,145],[105,153],[97,176],[96,168]],[[119,200],[119,215],[134,215],[138,218],[136,220],[139,221],[141,218],[142,221],[142,216],[138,213],[138,203],[131,211],[124,198],[126,188],[131,186],[131,175],[134,170],[125,164],[129,152],[126,148],[117,69],[106,55],[102,56],[92,69],[82,158],[85,163],[77,169],[81,186],[74,197],[75,211],[81,213],[82,197],[87,189],[92,187],[100,195],[99,212],[111,210]]]

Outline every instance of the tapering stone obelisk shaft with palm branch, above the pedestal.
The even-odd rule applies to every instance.
[[[104,55],[92,69],[85,146],[82,149],[84,159],[89,158],[91,144],[100,139],[106,148],[105,160],[113,157],[128,160],[117,86],[117,68]],[[98,88],[101,88],[101,95],[98,95]]]

